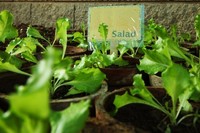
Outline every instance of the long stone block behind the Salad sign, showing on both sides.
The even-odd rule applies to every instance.
[[[135,4],[141,3],[76,3],[74,28],[79,29],[82,22],[87,25],[89,7]],[[179,32],[189,32],[194,35],[194,17],[200,13],[200,3],[144,3],[144,5],[145,24],[152,18],[167,28],[177,24]]]

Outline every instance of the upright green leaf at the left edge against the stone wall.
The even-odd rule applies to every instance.
[[[18,36],[17,29],[13,26],[13,15],[3,10],[0,12],[0,42],[5,42],[5,39],[12,39]]]

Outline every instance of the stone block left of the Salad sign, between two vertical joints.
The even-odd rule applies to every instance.
[[[73,3],[32,3],[31,24],[45,27],[55,27],[56,20],[67,17],[74,21]]]

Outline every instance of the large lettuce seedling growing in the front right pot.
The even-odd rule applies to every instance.
[[[180,65],[172,64],[162,74],[162,80],[164,89],[171,98],[170,101],[161,104],[146,88],[141,75],[137,74],[134,76],[134,84],[130,88],[130,93],[116,95],[114,100],[116,111],[131,103],[145,104],[160,110],[169,118],[170,123],[167,123],[166,127],[177,126],[184,119],[196,116],[188,101],[194,92],[193,86],[190,84],[189,72]],[[172,105],[170,106],[169,103],[172,103]],[[166,130],[170,129],[167,128]]]

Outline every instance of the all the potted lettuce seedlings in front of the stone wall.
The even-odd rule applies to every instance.
[[[0,18],[1,132],[84,132],[91,117],[107,123],[102,132],[113,131],[109,125],[118,125],[116,132],[179,132],[188,120],[192,125],[181,131],[200,130],[199,107],[193,106],[200,100],[200,59],[180,45],[185,38],[175,27],[168,32],[151,20],[144,44],[119,41],[116,54],[105,23],[97,29],[103,41],[93,40],[88,51],[84,26],[69,33],[67,18],[56,21],[53,39],[33,26],[20,37],[9,11]],[[152,77],[159,84],[152,86]]]

